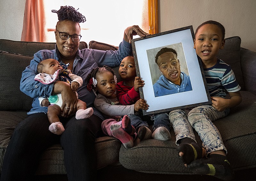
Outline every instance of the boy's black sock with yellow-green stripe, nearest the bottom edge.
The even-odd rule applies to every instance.
[[[195,160],[187,165],[187,168],[196,174],[211,175],[222,180],[232,180],[234,172],[227,157],[220,154],[210,154],[209,159]]]

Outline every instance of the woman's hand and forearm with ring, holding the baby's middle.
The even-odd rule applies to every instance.
[[[62,106],[61,106],[61,116],[68,117],[76,113],[77,106],[77,96],[73,92],[71,86],[63,81],[56,81],[52,90],[52,94],[61,93]]]

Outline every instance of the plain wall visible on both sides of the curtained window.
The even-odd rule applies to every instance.
[[[15,2],[15,3],[14,3]],[[0,38],[20,41],[26,0],[0,0]],[[158,0],[159,32],[216,20],[226,37],[240,36],[241,46],[256,51],[255,0]]]

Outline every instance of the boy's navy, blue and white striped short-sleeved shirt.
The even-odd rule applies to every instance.
[[[217,64],[204,69],[210,96],[225,97],[228,92],[237,92],[241,87],[236,82],[236,77],[231,67],[218,59]]]

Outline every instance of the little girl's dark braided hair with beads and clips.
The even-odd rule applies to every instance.
[[[96,68],[93,68],[91,73],[88,74],[87,76],[87,90],[89,90],[91,92],[91,90],[94,90],[96,91],[96,87],[93,86],[93,80],[92,78],[96,79],[96,75],[97,73],[99,72],[104,72],[104,71],[109,71],[113,74],[113,76],[115,77],[115,72],[113,71],[112,68],[108,67],[108,66],[103,66],[103,67],[96,67]]]

